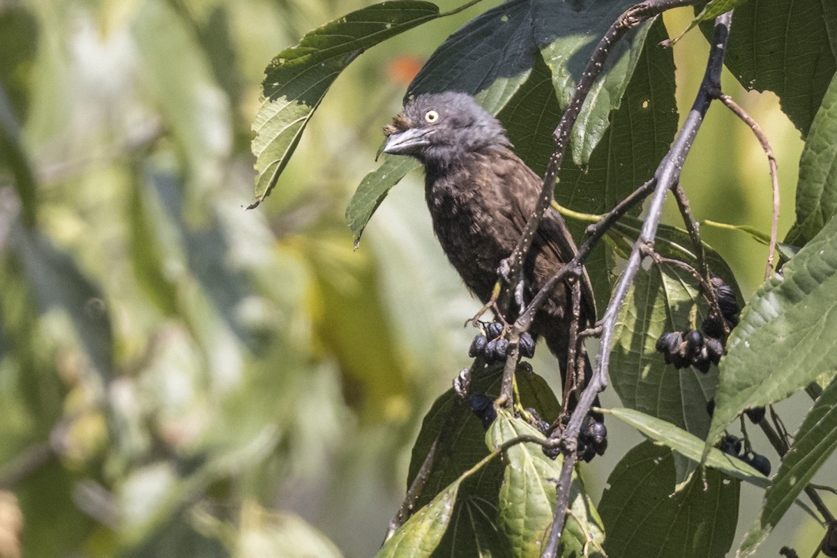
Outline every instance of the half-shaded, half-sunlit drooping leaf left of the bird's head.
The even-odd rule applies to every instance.
[[[258,206],[275,187],[337,75],[365,49],[438,17],[434,3],[374,4],[306,33],[300,44],[276,55],[265,70],[264,99],[253,123],[257,175],[250,207]]]

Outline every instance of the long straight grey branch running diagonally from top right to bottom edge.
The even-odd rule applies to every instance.
[[[567,504],[569,502],[570,480],[572,479],[573,468],[578,459],[575,451],[578,444],[578,433],[581,430],[584,417],[587,416],[591,407],[593,407],[593,400],[599,392],[603,391],[608,383],[610,346],[614,340],[614,331],[616,329],[616,320],[619,316],[619,309],[622,307],[625,296],[634,283],[634,277],[639,271],[639,264],[644,250],[653,247],[657,227],[662,217],[665,197],[670,188],[674,187],[680,179],[680,171],[682,171],[683,163],[686,161],[686,156],[688,156],[697,131],[701,127],[706,110],[709,109],[709,105],[713,99],[712,92],[720,90],[721,68],[723,67],[724,54],[727,50],[727,38],[729,36],[731,21],[731,12],[721,15],[715,20],[715,33],[712,37],[711,50],[706,63],[706,73],[701,82],[701,88],[698,90],[695,102],[689,114],[686,116],[683,128],[675,138],[670,151],[660,162],[660,166],[657,167],[657,171],[655,172],[655,191],[654,196],[651,198],[648,217],[645,218],[643,228],[639,233],[639,238],[637,238],[634,248],[631,250],[628,263],[625,265],[624,272],[619,278],[619,282],[614,290],[614,295],[600,322],[602,325],[602,337],[599,344],[596,366],[593,369],[593,377],[588,386],[585,387],[581,397],[579,397],[578,406],[573,412],[572,417],[570,417],[567,428],[562,433],[564,461],[562,463],[561,477],[557,484],[555,520],[552,522],[549,540],[542,553],[544,558],[552,558],[557,554],[558,540],[563,530]]]

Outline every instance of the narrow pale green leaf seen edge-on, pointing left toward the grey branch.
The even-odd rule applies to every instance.
[[[655,443],[671,448],[695,463],[701,462],[706,442],[697,438],[694,434],[687,433],[670,422],[665,422],[634,409],[615,407],[602,411],[608,415],[614,415],[619,420],[636,428],[639,432],[654,440]],[[741,459],[723,453],[718,448],[710,448],[705,464],[706,467],[716,469],[736,479],[746,480],[756,486],[765,487],[768,484],[767,477],[763,474]]]

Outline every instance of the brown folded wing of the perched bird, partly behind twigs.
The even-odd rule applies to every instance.
[[[497,155],[497,159],[492,163],[501,177],[497,184],[508,185],[498,187],[497,196],[505,202],[501,206],[501,212],[514,223],[518,233],[522,233],[534,211],[537,198],[540,197],[543,180],[513,151],[502,149],[498,150]],[[540,250],[543,252],[542,257],[552,263],[568,262],[578,253],[567,223],[564,223],[561,214],[554,208],[547,207],[547,211],[544,212],[541,225],[532,241],[532,249],[536,252],[536,257],[537,251]],[[543,284],[549,276],[557,273],[558,269],[554,264],[536,264],[535,273],[544,275],[537,278],[537,282]],[[582,273],[581,294],[583,320],[592,325],[596,320],[596,301],[587,269],[583,269]]]

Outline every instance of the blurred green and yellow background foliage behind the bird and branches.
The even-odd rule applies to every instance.
[[[357,251],[343,214],[418,64],[492,4],[363,54],[245,212],[265,65],[364,4],[0,2],[0,556],[380,545],[420,418],[468,362],[461,324],[478,304],[432,237],[418,174]],[[690,18],[667,14],[670,33]],[[706,49],[696,31],[675,46],[681,111]],[[802,142],[773,95],[727,78],[776,151],[781,238]],[[763,151],[725,110],[711,109],[683,184],[698,218],[769,230]],[[705,230],[752,292],[766,248]],[[782,404],[788,429],[808,407]],[[608,426],[608,454],[585,468],[596,495],[641,439]],[[803,519],[763,555],[813,550]],[[737,537],[752,515],[740,522]]]

